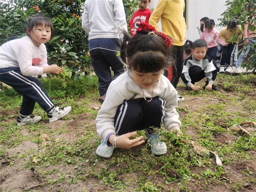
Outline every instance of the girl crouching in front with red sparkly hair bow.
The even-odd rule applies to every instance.
[[[116,147],[130,149],[144,143],[142,136],[129,139],[137,134],[134,131],[144,129],[152,153],[165,154],[166,144],[159,141],[157,130],[162,122],[166,130],[181,134],[175,109],[177,93],[162,75],[173,60],[171,44],[169,37],[144,22],[134,37],[125,33],[121,58],[129,70],[111,82],[96,117],[97,132],[102,138],[96,150],[99,156],[108,158]]]

